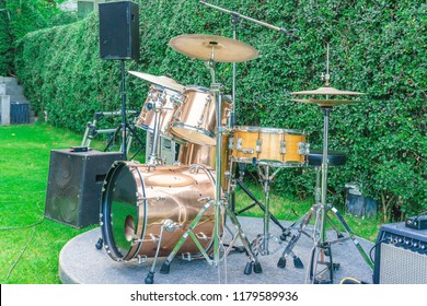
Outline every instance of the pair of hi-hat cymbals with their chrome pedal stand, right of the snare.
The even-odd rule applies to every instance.
[[[348,101],[344,99],[331,99],[330,96],[335,95],[361,95],[362,93],[358,92],[347,92],[347,91],[338,91],[330,86],[330,74],[328,74],[328,64],[330,64],[330,46],[327,45],[327,55],[326,55],[326,74],[322,74],[322,79],[325,81],[325,86],[320,87],[314,91],[302,91],[302,92],[292,92],[293,95],[325,95],[326,98],[322,99],[297,99],[298,102],[302,103],[314,103],[319,105],[323,110],[323,151],[322,151],[322,163],[321,163],[321,177],[320,180],[320,199],[318,197],[318,201],[310,210],[310,212],[304,216],[303,222],[301,225],[308,223],[309,217],[314,216],[314,229],[312,234],[312,239],[314,242],[313,248],[311,250],[310,256],[310,269],[308,270],[307,275],[307,282],[312,283],[333,283],[333,271],[334,269],[338,268],[339,266],[334,263],[332,260],[332,250],[331,245],[345,239],[345,238],[338,238],[337,240],[327,240],[326,237],[326,222],[328,221],[327,213],[332,211],[335,216],[338,219],[339,223],[344,226],[346,233],[348,234],[349,238],[355,244],[356,248],[365,259],[365,261],[368,263],[368,266],[373,269],[373,263],[370,260],[369,256],[366,254],[363,248],[360,246],[359,242],[356,239],[354,233],[345,222],[344,217],[341,215],[341,213],[337,211],[336,208],[333,207],[333,203],[326,202],[326,192],[327,192],[327,170],[330,167],[330,161],[328,161],[328,121],[330,121],[330,114],[332,111],[333,106],[337,106],[341,104],[349,104]],[[299,232],[302,233],[301,227],[299,228]],[[300,234],[299,234],[300,235]],[[299,235],[297,235],[299,237]],[[296,236],[293,236],[296,237]],[[291,239],[291,242],[288,244],[287,248],[285,249],[284,254],[292,255],[291,250],[296,244],[296,240]],[[347,239],[347,238],[346,238]],[[328,257],[328,262],[325,261],[325,257]],[[280,258],[278,264],[284,266],[284,256]],[[318,271],[319,264],[324,264],[325,269]]]

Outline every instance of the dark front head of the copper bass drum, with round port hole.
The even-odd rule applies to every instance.
[[[138,251],[132,240],[138,223],[137,184],[125,163],[116,163],[105,179],[101,228],[104,246],[114,260],[132,258]]]

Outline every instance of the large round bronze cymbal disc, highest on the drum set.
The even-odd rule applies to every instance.
[[[258,51],[254,47],[233,38],[217,35],[181,35],[172,38],[169,46],[180,54],[205,61],[242,62],[258,57]]]

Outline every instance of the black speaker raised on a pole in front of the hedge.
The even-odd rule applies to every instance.
[[[139,11],[131,1],[100,3],[101,59],[139,59]]]

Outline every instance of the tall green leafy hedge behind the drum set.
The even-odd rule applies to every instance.
[[[170,74],[184,85],[210,85],[209,71],[168,46],[182,34],[231,37],[231,16],[198,1],[141,0],[138,62],[127,70]],[[259,51],[238,64],[238,126],[303,130],[311,148],[321,149],[323,114],[316,105],[291,102],[290,92],[323,85],[326,44],[331,46],[331,83],[366,93],[363,103],[332,111],[330,149],[348,162],[330,170],[330,191],[359,181],[384,219],[426,210],[427,4],[425,1],[247,0],[212,4],[287,30],[285,35],[242,20],[238,38]],[[99,56],[99,20],[34,32],[19,45],[15,66],[37,111],[57,126],[82,132],[95,110],[120,105],[119,63]],[[217,64],[217,81],[230,92],[232,66]],[[127,75],[128,108],[140,109],[147,82]],[[311,169],[284,169],[276,189],[311,197]],[[343,197],[341,198],[343,201]]]

